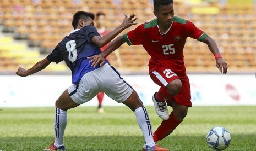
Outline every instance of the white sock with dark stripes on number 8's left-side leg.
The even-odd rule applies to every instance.
[[[55,142],[56,147],[63,146],[64,143],[64,131],[67,126],[67,111],[63,111],[59,108],[55,109]]]

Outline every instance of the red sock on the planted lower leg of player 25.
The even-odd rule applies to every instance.
[[[180,123],[182,123],[182,120],[176,119],[173,113],[171,113],[170,118],[168,120],[163,120],[161,125],[154,132],[154,141],[157,142],[170,135]]]

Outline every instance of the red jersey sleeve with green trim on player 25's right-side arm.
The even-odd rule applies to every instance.
[[[197,28],[192,22],[187,21],[187,33],[188,37],[197,39],[200,42],[203,42],[204,39],[207,37],[207,34]]]

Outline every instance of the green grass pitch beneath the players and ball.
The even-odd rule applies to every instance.
[[[156,130],[161,119],[146,107]],[[127,107],[78,107],[68,111],[67,150],[142,150],[144,143],[135,114]],[[170,110],[169,110],[170,111]],[[187,117],[160,146],[170,150],[211,150],[206,134],[224,126],[232,141],[226,150],[256,150],[256,106],[192,107]],[[54,137],[55,108],[3,108],[0,111],[0,150],[43,150]]]

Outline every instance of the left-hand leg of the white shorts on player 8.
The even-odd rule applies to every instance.
[[[68,88],[69,96],[77,104],[83,104],[90,101],[100,92],[95,74],[86,73],[78,85],[72,85]]]

